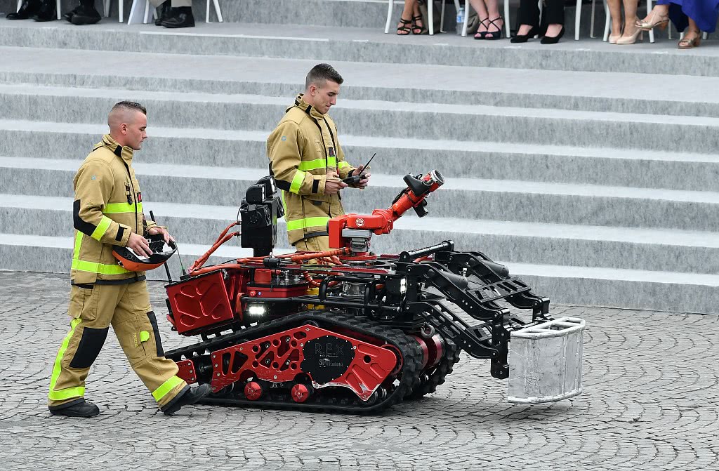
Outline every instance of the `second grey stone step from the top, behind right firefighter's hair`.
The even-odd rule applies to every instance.
[[[0,47],[0,82],[281,96],[316,60]],[[28,63],[27,57],[32,57]],[[121,70],[114,65],[123,63]],[[92,67],[88,67],[91,64]],[[344,99],[719,116],[715,77],[337,61]],[[206,70],[213,70],[207,76]],[[620,86],[618,86],[620,85]],[[669,90],[667,92],[667,90]]]

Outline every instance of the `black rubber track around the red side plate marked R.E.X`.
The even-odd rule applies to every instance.
[[[206,351],[214,352],[252,339],[265,337],[266,335],[305,324],[307,321],[314,321],[327,330],[332,330],[333,327],[339,327],[356,331],[370,337],[383,339],[384,342],[397,347],[403,357],[403,365],[397,387],[391,391],[383,401],[374,403],[372,406],[367,406],[367,403],[361,401],[356,396],[354,396],[355,398],[352,401],[348,401],[347,398],[344,397],[324,397],[329,396],[329,391],[335,389],[331,387],[318,390],[319,394],[314,397],[321,397],[321,400],[315,403],[296,403],[289,397],[287,401],[249,401],[246,398],[239,398],[237,396],[228,397],[228,395],[224,395],[223,397],[223,395],[218,394],[210,395],[208,398],[203,399],[201,403],[222,406],[282,408],[298,411],[377,413],[400,403],[406,395],[411,394],[413,389],[419,386],[422,352],[414,339],[404,334],[403,331],[389,329],[383,324],[370,321],[363,317],[342,313],[327,313],[326,311],[306,311],[301,314],[286,316],[282,319],[276,319],[275,321],[260,324],[243,331],[208,339],[205,342],[189,345],[188,347],[170,350],[165,352],[165,356],[171,358],[173,361],[180,361],[183,357],[193,357],[193,353],[195,352],[204,355]],[[346,390],[345,388],[338,389]]]

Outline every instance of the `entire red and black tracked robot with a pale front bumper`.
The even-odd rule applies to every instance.
[[[331,219],[336,249],[285,255],[271,253],[283,216],[273,178],[250,186],[241,221],[220,234],[189,274],[165,287],[173,330],[201,337],[165,356],[187,383],[212,386],[204,403],[375,413],[433,393],[462,351],[489,359],[491,375],[508,378],[510,339],[521,333],[525,355],[541,352],[546,335],[562,341],[573,335],[579,344],[568,365],[534,358],[528,366],[517,355],[521,378],[514,388],[510,378],[510,401],[557,401],[582,392],[584,321],[553,319],[549,298],[533,294],[505,266],[482,252],[458,252],[449,240],[399,255],[370,252],[372,234],[388,234],[408,209],[425,216],[427,196],[444,184],[437,170],[404,181],[407,188],[390,208]],[[242,232],[229,233],[238,225]],[[254,257],[203,266],[237,236]],[[531,321],[508,306],[531,311]],[[478,322],[470,325],[467,317]],[[554,385],[540,384],[542,378],[554,378]]]

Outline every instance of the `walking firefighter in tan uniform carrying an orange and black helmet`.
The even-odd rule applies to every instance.
[[[162,352],[145,273],[125,270],[112,255],[114,246],[151,255],[143,236],[162,234],[168,242],[170,234],[145,221],[132,168],[133,151],[147,138],[145,108],[122,101],[110,111],[108,124],[110,134],[93,148],[73,180],[70,331],[52,367],[50,413],[78,417],[100,413],[84,399],[85,378],[112,326],[132,369],[162,411],[170,414],[195,403],[210,388],[191,389],[178,378],[177,365]]]

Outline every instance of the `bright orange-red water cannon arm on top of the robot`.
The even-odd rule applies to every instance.
[[[424,217],[429,211],[425,209],[426,198],[430,193],[444,185],[444,177],[439,170],[431,170],[426,175],[404,177],[407,188],[395,196],[392,206],[388,209],[375,209],[372,214],[344,214],[329,220],[329,247],[339,249],[348,247],[355,254],[370,250],[372,233],[389,234],[394,221],[400,219],[409,209],[414,209],[417,216]]]

